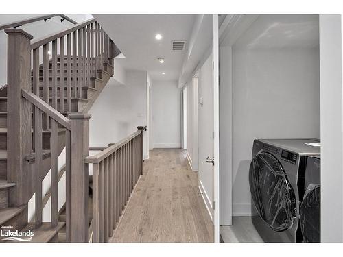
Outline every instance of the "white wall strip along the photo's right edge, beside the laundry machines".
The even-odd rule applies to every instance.
[[[343,241],[342,27],[320,15],[321,241]]]

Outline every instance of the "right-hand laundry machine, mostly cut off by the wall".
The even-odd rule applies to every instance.
[[[307,159],[299,222],[303,242],[320,243],[320,156]]]

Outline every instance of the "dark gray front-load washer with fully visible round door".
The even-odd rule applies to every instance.
[[[265,242],[303,241],[298,222],[307,158],[317,139],[258,139],[252,147],[249,186],[252,223]]]

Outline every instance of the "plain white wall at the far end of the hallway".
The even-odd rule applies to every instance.
[[[176,81],[152,82],[152,127],[154,148],[181,147],[182,88]]]

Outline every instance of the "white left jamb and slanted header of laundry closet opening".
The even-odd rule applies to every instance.
[[[259,15],[227,14],[219,31],[220,62],[220,225],[232,225],[233,217],[233,110],[232,47]],[[221,60],[222,57],[222,60]],[[226,70],[228,69],[228,71]],[[225,70],[225,72],[223,72]]]

